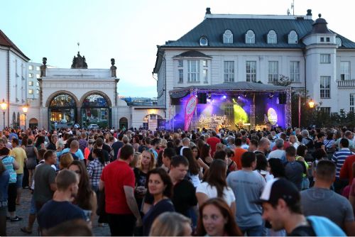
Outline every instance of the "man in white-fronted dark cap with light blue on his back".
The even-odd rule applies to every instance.
[[[263,206],[263,219],[274,231],[285,229],[288,236],[346,236],[337,224],[323,216],[302,214],[300,193],[295,184],[283,178],[266,183],[257,203]]]

